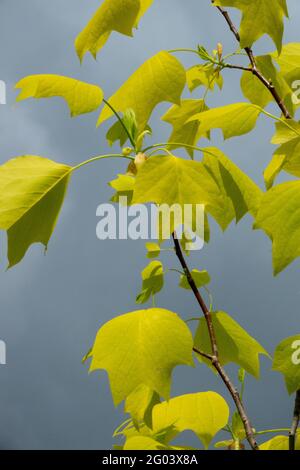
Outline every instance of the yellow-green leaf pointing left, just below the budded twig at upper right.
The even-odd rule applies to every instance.
[[[198,121],[200,135],[222,129],[224,139],[229,139],[252,131],[260,113],[261,108],[256,105],[235,103],[195,114],[187,122]]]

